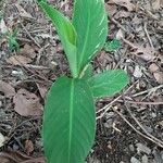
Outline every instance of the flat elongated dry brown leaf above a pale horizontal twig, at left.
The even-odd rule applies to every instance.
[[[7,60],[8,63],[13,65],[22,65],[30,63],[33,60],[23,55],[14,55]]]

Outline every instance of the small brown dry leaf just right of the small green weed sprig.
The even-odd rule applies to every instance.
[[[27,43],[21,49],[21,54],[30,59],[35,59],[37,55],[35,49]]]

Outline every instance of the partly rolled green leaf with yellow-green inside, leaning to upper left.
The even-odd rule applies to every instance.
[[[76,59],[76,32],[67,17],[65,17],[52,5],[45,0],[39,1],[39,4],[51,18],[63,45],[66,58],[70,63],[73,77],[77,77],[77,59]]]

